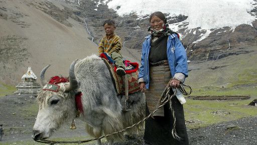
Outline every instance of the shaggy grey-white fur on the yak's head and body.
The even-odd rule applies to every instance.
[[[84,112],[80,115],[80,119],[86,122],[86,130],[93,137],[99,137],[102,133],[109,134],[121,130],[144,118],[145,98],[143,93],[136,92],[130,94],[127,102],[130,104],[132,111],[122,112],[121,103],[125,101],[125,96],[117,96],[108,68],[98,56],[92,55],[78,60],[75,64],[75,77],[78,81],[79,89],[83,94],[81,101]],[[65,88],[63,88],[63,83],[59,85],[61,85],[59,92],[42,90],[38,95],[40,109],[34,125],[34,136],[36,136],[35,132],[42,132],[40,137],[49,137],[51,130],[58,128],[63,123],[60,119],[70,120],[75,115],[75,109],[73,109],[75,107],[74,91],[64,93]],[[51,103],[53,96],[57,96],[60,99],[59,104],[57,103],[55,106]],[[67,101],[67,106],[63,106]],[[58,105],[62,105],[62,107]],[[47,126],[51,123],[44,123],[43,125],[40,123],[42,122],[42,118],[46,118],[45,116],[51,116],[51,114],[47,114],[48,112],[53,112],[52,114],[54,115],[58,114],[58,117],[50,117],[52,119],[45,120],[46,122],[58,122],[52,123],[54,125],[51,128]],[[43,126],[48,129],[42,128]],[[137,127],[143,127],[143,124]],[[133,132],[137,132],[137,129],[135,127],[127,132],[133,134]],[[50,135],[45,130],[50,130]],[[123,139],[123,133],[109,136],[107,138],[108,144],[113,144],[114,139]],[[97,140],[96,144],[101,144],[100,140]]]

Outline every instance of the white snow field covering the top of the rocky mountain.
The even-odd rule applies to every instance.
[[[121,17],[136,13],[138,19],[146,19],[148,17],[145,16],[156,11],[166,13],[170,20],[173,17],[183,15],[187,19],[170,24],[170,28],[174,31],[186,28],[184,31],[187,33],[196,28],[207,30],[206,34],[202,35],[196,42],[206,38],[215,29],[230,27],[234,30],[241,24],[252,26],[252,22],[256,20],[255,13],[251,12],[256,8],[256,2],[253,0],[167,0],[162,1],[162,3],[155,0],[112,0],[107,3],[107,6],[109,9],[115,10]]]

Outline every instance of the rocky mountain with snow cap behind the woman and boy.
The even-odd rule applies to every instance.
[[[83,4],[84,10],[90,9],[85,17],[93,25],[95,43],[101,37],[102,31],[97,30],[101,23],[114,19],[124,46],[140,49],[148,35],[149,15],[161,11],[166,14],[170,28],[182,34],[189,59],[216,60],[248,53],[241,46],[256,45],[255,0],[167,0],[161,3],[155,0],[86,0]]]

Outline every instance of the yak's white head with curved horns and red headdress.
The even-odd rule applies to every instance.
[[[53,77],[48,83],[45,81],[46,66],[40,74],[43,89],[39,92],[37,101],[39,111],[33,127],[32,137],[35,140],[48,138],[66,121],[76,115],[75,89],[78,83],[74,74],[75,61],[70,66],[69,80]]]

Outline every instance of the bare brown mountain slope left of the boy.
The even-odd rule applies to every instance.
[[[1,82],[16,85],[28,66],[39,77],[48,64],[47,77],[67,76],[73,60],[97,52],[72,5],[24,0],[0,1],[0,6]]]

